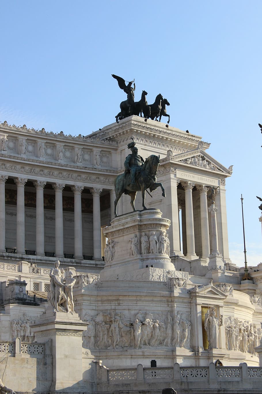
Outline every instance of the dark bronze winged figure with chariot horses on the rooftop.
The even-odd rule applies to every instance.
[[[155,119],[159,117],[159,122],[161,121],[162,116],[168,117],[168,122],[170,121],[170,116],[167,114],[166,106],[170,105],[167,99],[164,99],[161,93],[156,96],[156,99],[153,104],[148,104],[146,95],[147,92],[145,90],[142,91],[141,99],[139,101],[135,101],[134,90],[135,85],[132,87],[134,81],[128,82],[125,84],[125,80],[117,75],[112,74],[112,77],[115,78],[118,82],[118,85],[123,91],[127,94],[127,99],[122,101],[120,104],[120,112],[116,115],[115,119],[118,123],[119,120],[125,119],[131,115],[143,116],[147,119]]]

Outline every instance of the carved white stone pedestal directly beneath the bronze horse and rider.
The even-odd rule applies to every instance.
[[[111,243],[114,247],[112,247],[113,253],[110,252],[110,259],[106,258],[104,269],[100,272],[101,280],[106,279],[108,275],[117,276],[117,274],[146,268],[146,266],[174,270],[174,264],[171,263],[166,251],[162,253],[162,249],[159,253],[159,237],[167,232],[170,226],[170,220],[162,218],[161,214],[158,209],[132,212],[116,217],[111,221],[110,226],[103,229],[104,235],[108,238],[108,244]],[[145,233],[150,242],[153,232],[158,241],[153,241],[156,242],[157,253],[150,253],[149,245],[148,253],[142,254],[141,237]],[[137,236],[136,245],[132,241],[134,236]],[[105,251],[105,257],[106,254],[107,251]]]

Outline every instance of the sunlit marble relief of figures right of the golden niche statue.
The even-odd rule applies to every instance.
[[[247,320],[243,322],[232,316],[225,319],[225,338],[228,350],[257,355],[255,348],[259,346],[261,337],[261,328],[257,328],[255,323],[249,323]]]

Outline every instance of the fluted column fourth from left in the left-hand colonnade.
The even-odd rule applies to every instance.
[[[63,200],[62,191],[64,184],[53,184],[55,189],[55,256],[64,257],[64,236],[63,236]]]

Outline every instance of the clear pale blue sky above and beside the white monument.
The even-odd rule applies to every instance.
[[[162,93],[170,125],[203,137],[228,167],[230,255],[262,261],[262,1],[0,1],[0,121],[65,134],[114,122],[125,98]]]

